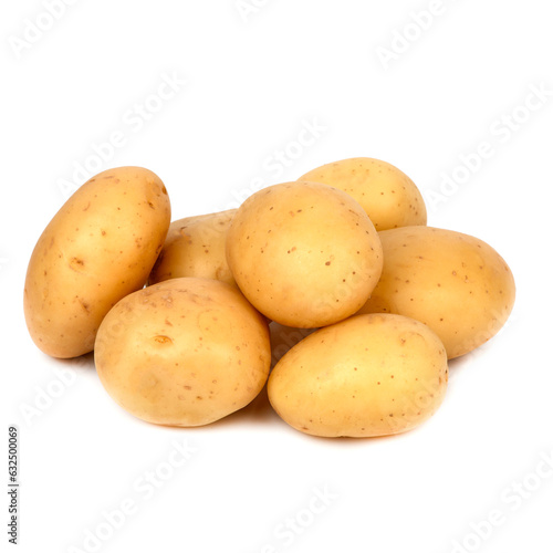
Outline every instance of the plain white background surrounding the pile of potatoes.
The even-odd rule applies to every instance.
[[[549,2],[77,0],[55,20],[45,3],[3,2],[0,18],[0,481],[14,424],[19,551],[552,551]],[[430,24],[415,23],[429,8]],[[155,98],[164,75],[173,97]],[[317,131],[298,147],[306,125]],[[100,147],[114,132],[118,145]],[[482,142],[492,155],[478,161]],[[517,280],[509,324],[450,364],[445,404],[419,429],[316,439],[262,397],[209,427],[158,428],[112,401],[91,356],[55,361],[31,342],[27,263],[79,165],[156,171],[177,219],[353,156],[407,173],[430,225],[486,240]],[[178,468],[173,440],[195,449]],[[103,512],[122,503],[134,509],[114,530]]]

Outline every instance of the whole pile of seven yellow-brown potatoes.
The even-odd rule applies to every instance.
[[[49,355],[94,349],[107,393],[153,424],[212,422],[267,384],[303,432],[398,434],[438,409],[448,359],[491,338],[514,303],[495,250],[426,223],[413,180],[372,158],[173,222],[154,173],[115,168],[40,237],[25,320]]]

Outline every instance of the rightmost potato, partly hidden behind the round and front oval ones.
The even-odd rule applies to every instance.
[[[514,280],[482,240],[452,230],[405,227],[379,232],[380,281],[359,313],[398,313],[426,323],[451,359],[490,340],[511,313]]]

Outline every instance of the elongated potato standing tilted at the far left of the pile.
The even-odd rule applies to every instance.
[[[32,252],[24,314],[54,357],[91,352],[102,319],[146,282],[170,222],[157,175],[119,167],[91,178],[62,206]]]

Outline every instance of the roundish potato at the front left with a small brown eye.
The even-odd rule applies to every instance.
[[[269,375],[269,328],[233,286],[181,278],[121,300],[100,326],[96,369],[132,415],[200,426],[249,404]]]

